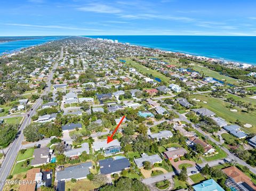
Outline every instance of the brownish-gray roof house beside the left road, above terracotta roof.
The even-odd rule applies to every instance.
[[[38,167],[40,165],[46,164],[50,162],[51,152],[48,147],[36,148],[34,150],[33,157],[34,159],[31,160],[31,166]]]

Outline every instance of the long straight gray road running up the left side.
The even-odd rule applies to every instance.
[[[60,59],[61,60],[63,57],[63,49],[61,48],[61,54],[60,54]],[[48,78],[47,78],[47,82],[46,82],[46,88],[44,89],[44,92],[41,94],[41,96],[37,99],[37,101],[35,102],[35,104],[32,106],[33,111],[28,111],[27,113],[30,114],[30,116],[28,118],[25,118],[25,120],[23,121],[23,123],[21,124],[20,127],[20,135],[18,136],[18,138],[16,138],[13,143],[11,143],[10,149],[7,152],[4,161],[1,165],[0,168],[0,181],[4,181],[6,180],[7,176],[10,174],[11,169],[13,167],[13,164],[15,162],[15,159],[18,155],[18,152],[21,148],[21,143],[23,141],[24,135],[23,135],[23,129],[30,124],[31,122],[31,117],[36,113],[36,110],[38,109],[38,107],[42,104],[43,100],[41,99],[41,97],[43,95],[46,95],[47,93],[50,92],[51,90],[51,80],[53,78],[53,74],[55,69],[58,66],[58,62],[56,62],[53,66],[53,69],[51,71],[51,73],[49,74]],[[3,190],[4,185],[0,184],[0,190]]]

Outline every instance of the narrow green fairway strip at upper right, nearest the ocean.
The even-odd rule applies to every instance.
[[[225,81],[228,84],[233,84],[236,86],[239,85],[239,82],[237,82],[236,79],[230,78],[227,76],[223,76],[219,72],[215,72],[213,70],[210,70],[209,68],[201,67],[199,65],[194,65],[193,70],[196,70],[198,72],[203,72],[205,74],[205,76],[210,76],[210,77],[216,78],[218,80]]]

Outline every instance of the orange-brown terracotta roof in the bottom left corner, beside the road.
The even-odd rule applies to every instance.
[[[33,184],[21,184],[19,191],[35,191],[36,189],[36,183],[34,182],[36,178],[36,173],[41,172],[41,168],[34,168],[27,171],[27,178],[25,178],[25,181],[32,181]]]

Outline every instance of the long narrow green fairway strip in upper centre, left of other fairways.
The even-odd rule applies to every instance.
[[[128,59],[126,60],[126,64],[131,66],[131,67],[133,67],[133,68],[135,68],[135,69],[137,69],[142,74],[151,74],[155,78],[159,78],[162,81],[170,82],[170,78],[164,76],[164,74],[162,74],[162,73],[160,73],[160,72],[158,72],[156,70],[149,69],[149,68],[145,67],[142,64],[133,62],[132,60],[128,60]]]

